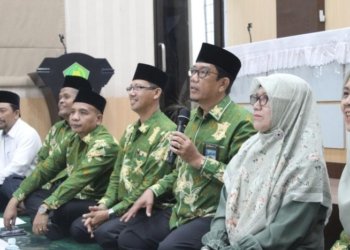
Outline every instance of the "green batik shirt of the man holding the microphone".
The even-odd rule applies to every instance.
[[[215,214],[226,164],[255,133],[251,113],[228,96],[204,117],[201,108],[192,111],[185,134],[206,157],[204,164],[198,170],[177,158],[176,169],[151,187],[157,197],[173,189],[176,204],[170,217],[171,229]]]

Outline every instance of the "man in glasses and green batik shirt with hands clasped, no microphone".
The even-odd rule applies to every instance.
[[[159,109],[167,78],[151,65],[138,64],[126,90],[139,120],[126,128],[120,140],[121,150],[104,197],[73,223],[71,234],[78,242],[96,241],[104,249],[116,249],[119,234],[127,225],[120,216],[146,188],[171,171],[165,160],[169,134],[176,125]]]

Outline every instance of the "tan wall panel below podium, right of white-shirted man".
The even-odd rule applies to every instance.
[[[49,110],[45,100],[43,98],[21,97],[21,115],[23,120],[38,131],[41,140],[44,140],[51,127]]]

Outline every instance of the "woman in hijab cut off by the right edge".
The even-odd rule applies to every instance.
[[[344,114],[346,130],[350,131],[350,72],[345,78],[342,100],[340,103],[341,110]],[[340,239],[334,244],[332,250],[350,249],[350,164],[349,160],[340,177],[338,186],[338,207],[339,218],[343,225],[344,231],[340,235]]]

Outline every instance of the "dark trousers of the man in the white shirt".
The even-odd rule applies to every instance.
[[[21,185],[24,178],[24,176],[13,174],[6,177],[2,185],[0,185],[0,212],[5,210],[7,203],[12,198],[13,192]]]

